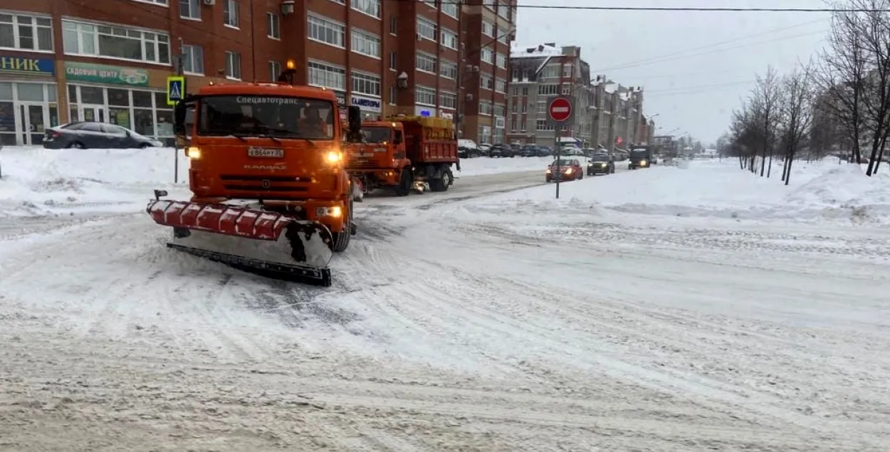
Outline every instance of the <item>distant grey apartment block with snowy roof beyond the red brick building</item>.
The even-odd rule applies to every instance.
[[[643,116],[643,88],[624,87],[605,76],[591,79],[577,46],[555,43],[514,47],[510,58],[507,141],[554,146],[568,142],[624,149],[651,141],[654,122]],[[556,136],[546,125],[546,100],[575,99],[572,123]]]

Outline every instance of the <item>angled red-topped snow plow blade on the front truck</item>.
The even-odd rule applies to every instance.
[[[146,208],[174,229],[168,247],[269,278],[331,285],[333,235],[320,222],[225,204],[155,199]]]

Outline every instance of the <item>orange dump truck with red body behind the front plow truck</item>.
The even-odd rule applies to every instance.
[[[454,183],[451,166],[460,171],[457,136],[449,119],[388,117],[361,124],[361,141],[346,145],[347,168],[362,189],[391,189],[398,196],[411,190],[445,191]]]

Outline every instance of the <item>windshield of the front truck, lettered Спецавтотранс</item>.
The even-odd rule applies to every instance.
[[[199,135],[332,140],[334,104],[300,97],[215,95],[199,101]]]

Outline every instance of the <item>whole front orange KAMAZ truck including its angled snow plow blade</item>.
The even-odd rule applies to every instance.
[[[173,228],[169,247],[330,286],[328,263],[356,232],[361,191],[343,147],[360,136],[360,112],[350,108],[344,126],[335,94],[295,85],[295,70],[287,61],[278,83],[210,85],[180,102],[174,130],[188,144],[192,197],[155,190],[147,211]]]

